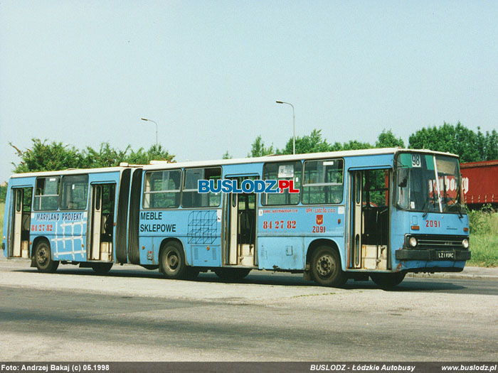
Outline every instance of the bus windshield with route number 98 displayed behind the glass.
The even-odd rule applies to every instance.
[[[425,213],[462,213],[457,158],[401,153],[396,161],[396,175],[398,208]]]

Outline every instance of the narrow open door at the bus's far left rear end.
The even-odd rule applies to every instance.
[[[28,258],[32,188],[12,188],[11,257]]]

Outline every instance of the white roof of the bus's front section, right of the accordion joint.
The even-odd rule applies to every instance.
[[[305,153],[305,154],[289,154],[285,156],[263,156],[255,158],[235,158],[235,159],[220,159],[212,161],[185,161],[179,163],[169,163],[167,161],[151,161],[151,164],[143,166],[144,170],[159,170],[164,168],[184,168],[184,167],[205,167],[205,166],[225,166],[243,163],[262,163],[275,161],[293,161],[298,159],[321,159],[321,158],[344,158],[352,156],[376,156],[381,154],[395,154],[400,152],[417,152],[428,154],[439,154],[443,156],[454,156],[456,154],[443,153],[441,151],[430,151],[426,149],[407,149],[407,148],[373,148],[348,151],[327,151],[322,153]]]

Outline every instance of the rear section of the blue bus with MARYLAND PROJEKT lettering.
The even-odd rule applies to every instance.
[[[31,258],[42,272],[60,263],[109,271],[126,247],[130,175],[122,167],[12,175],[4,255]]]

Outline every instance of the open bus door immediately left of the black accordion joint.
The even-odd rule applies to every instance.
[[[115,190],[114,183],[92,185],[92,221],[88,255],[90,260],[112,260]]]

